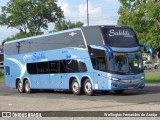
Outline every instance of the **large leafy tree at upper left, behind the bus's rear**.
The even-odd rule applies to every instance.
[[[58,22],[64,18],[63,11],[56,0],[10,0],[2,7],[0,25],[17,28],[20,33],[37,35],[48,23]]]

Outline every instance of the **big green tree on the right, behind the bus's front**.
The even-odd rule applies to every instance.
[[[158,53],[160,48],[160,0],[119,0],[118,24],[134,29],[140,43]]]

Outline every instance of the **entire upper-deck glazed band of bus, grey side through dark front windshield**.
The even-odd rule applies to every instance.
[[[22,54],[89,45],[130,48],[139,46],[136,34],[126,26],[97,25],[22,38],[5,43],[6,54]]]

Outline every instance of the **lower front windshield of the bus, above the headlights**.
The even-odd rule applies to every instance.
[[[143,71],[141,52],[115,52],[114,58],[109,61],[109,72],[115,74],[136,74]]]

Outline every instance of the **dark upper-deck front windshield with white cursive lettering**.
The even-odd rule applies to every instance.
[[[107,46],[136,47],[138,40],[134,31],[126,27],[102,28],[102,35]]]

